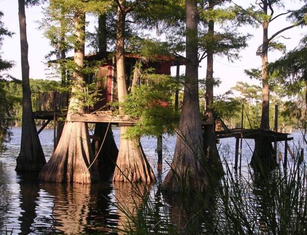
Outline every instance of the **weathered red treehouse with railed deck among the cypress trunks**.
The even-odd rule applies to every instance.
[[[69,59],[72,60],[73,58],[70,57]],[[112,116],[109,104],[118,100],[115,54],[112,52],[91,53],[86,55],[84,59],[88,62],[101,62],[98,72],[86,78],[87,83],[94,82],[96,84],[99,90],[98,102],[94,106],[88,107],[86,114],[74,114],[70,117],[70,120],[93,123],[109,122]],[[53,60],[49,63],[56,62],[57,60]],[[180,65],[185,64],[184,59],[179,56],[157,55],[148,59],[135,53],[126,52],[125,70],[128,90],[132,86],[133,70],[137,62],[142,63],[142,69],[153,68],[154,73],[160,75],[170,75],[172,66],[179,68]],[[51,120],[56,122],[59,117],[66,117],[69,95],[68,93],[58,92],[32,93],[34,118],[47,120],[45,125],[39,130],[39,133]],[[135,123],[135,120],[127,117],[112,117],[111,123],[131,125]]]

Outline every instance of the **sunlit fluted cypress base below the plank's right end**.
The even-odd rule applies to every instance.
[[[121,135],[126,133],[127,128],[129,127],[120,127]],[[146,159],[139,140],[130,140],[121,136],[113,181],[144,183],[155,181],[153,169]]]

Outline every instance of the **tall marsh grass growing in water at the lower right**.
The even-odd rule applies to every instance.
[[[305,138],[305,137],[304,137]],[[306,141],[306,139],[305,139]],[[299,164],[300,148],[288,167],[236,175],[229,163],[229,148],[220,151],[225,174],[208,183],[205,191],[191,190],[178,176],[179,192],[162,190],[161,175],[154,186],[133,184],[133,209],[118,203],[129,221],[121,232],[146,234],[264,234],[307,233],[307,165]],[[227,151],[228,149],[228,151]],[[205,167],[205,165],[204,165]],[[172,170],[172,169],[171,169]],[[210,178],[210,170],[206,169]],[[161,172],[160,172],[161,173]],[[186,174],[189,174],[187,171]]]

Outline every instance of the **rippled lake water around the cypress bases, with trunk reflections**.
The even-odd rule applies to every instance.
[[[118,229],[123,228],[127,216],[118,209],[118,201],[120,205],[131,210],[136,203],[135,195],[129,185],[114,185],[112,182],[92,185],[39,183],[35,174],[19,175],[14,169],[19,154],[21,128],[13,127],[12,133],[7,151],[0,156],[0,234],[5,234],[5,231],[8,234],[11,232],[12,234],[120,233]],[[113,127],[113,133],[118,146],[119,128]],[[300,133],[294,133],[293,136],[296,146],[303,145]],[[40,140],[48,160],[53,149],[53,130],[45,129],[41,132]],[[175,141],[175,136],[163,136],[163,160],[168,163],[172,160]],[[145,137],[141,142],[157,175],[156,139]],[[289,145],[295,149],[292,141]],[[221,157],[230,164],[234,164],[234,146],[234,138],[222,139],[218,145]],[[278,147],[283,153],[283,143],[279,143]],[[253,148],[254,141],[243,140],[243,174],[247,172]],[[289,161],[291,163],[292,159]],[[162,197],[157,189],[167,171],[168,165],[163,162],[163,174],[159,177],[158,183],[150,188],[156,198]],[[170,208],[159,203],[157,206]],[[169,216],[167,211],[164,216]]]

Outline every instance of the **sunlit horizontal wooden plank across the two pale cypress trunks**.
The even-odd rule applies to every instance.
[[[107,114],[72,114],[67,117],[67,121],[80,121],[80,122],[110,122],[110,123],[127,123],[134,124],[137,120],[128,118],[126,116],[111,116]]]

